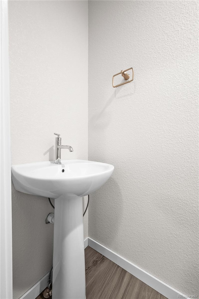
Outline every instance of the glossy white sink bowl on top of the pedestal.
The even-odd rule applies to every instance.
[[[20,164],[12,166],[12,182],[17,191],[27,194],[85,196],[103,186],[113,169],[113,165],[86,160]]]

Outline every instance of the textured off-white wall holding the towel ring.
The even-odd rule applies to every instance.
[[[89,159],[115,166],[89,236],[199,296],[197,31],[196,1],[89,1]]]

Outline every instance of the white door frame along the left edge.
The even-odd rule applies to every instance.
[[[8,1],[1,0],[0,2],[0,299],[12,299],[12,201],[8,60]]]

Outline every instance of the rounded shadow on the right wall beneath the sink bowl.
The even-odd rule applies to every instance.
[[[96,241],[106,246],[114,245],[122,215],[122,193],[118,183],[110,177],[104,186],[90,195],[89,236],[95,236]]]

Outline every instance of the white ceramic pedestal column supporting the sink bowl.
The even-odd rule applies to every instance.
[[[55,199],[53,299],[85,299],[82,197]]]

